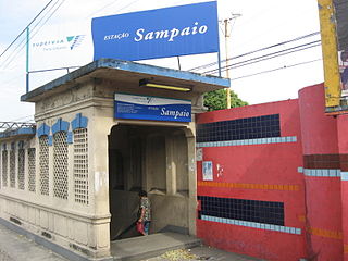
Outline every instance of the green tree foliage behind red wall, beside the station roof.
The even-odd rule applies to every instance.
[[[238,96],[231,91],[231,108],[248,105],[248,102],[243,101]],[[208,111],[216,111],[227,109],[226,90],[213,90],[204,94],[204,107]]]

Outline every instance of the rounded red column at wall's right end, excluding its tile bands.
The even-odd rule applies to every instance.
[[[324,114],[324,86],[301,89],[299,109],[303,156],[338,154],[336,119]],[[304,182],[307,227],[315,229],[307,229],[308,254],[318,260],[343,260],[340,178],[304,176]]]

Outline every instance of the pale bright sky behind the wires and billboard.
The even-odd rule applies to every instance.
[[[0,0],[0,53],[29,24],[49,0]],[[92,17],[121,14],[127,12],[159,9],[189,3],[203,2],[199,0],[54,0],[57,12],[49,17],[41,16],[41,24],[33,29],[33,41],[38,41],[52,34],[57,28],[64,30],[82,28],[78,25],[89,25]],[[228,38],[228,58],[254,51],[278,42],[287,41],[300,36],[319,32],[319,16],[316,0],[217,0],[219,20],[238,17],[231,22],[231,37]],[[49,20],[48,20],[49,17]],[[38,18],[40,21],[40,16]],[[47,21],[47,22],[46,22]],[[42,25],[45,23],[45,25]],[[42,25],[42,26],[41,26]],[[220,49],[222,59],[225,58],[225,38],[223,24],[220,28]],[[282,45],[266,51],[244,55],[231,61],[232,64],[253,59],[270,52],[281,51],[299,45],[319,40],[314,35],[302,40]],[[0,57],[0,122],[29,121],[34,119],[34,104],[21,102],[20,97],[25,94],[25,38],[18,40]],[[22,41],[22,46],[20,46]],[[30,64],[35,70],[38,61],[47,58],[37,53]],[[182,70],[215,62],[216,53],[181,57]],[[82,55],[80,61],[72,65],[84,65],[88,55]],[[258,104],[298,97],[298,90],[323,82],[321,47],[309,48],[262,62],[252,62],[245,66],[229,71],[231,88],[239,98],[249,104]],[[86,60],[87,59],[87,60]],[[52,59],[59,60],[59,59]],[[178,69],[176,58],[138,61],[158,66]],[[45,63],[41,63],[45,64]],[[300,65],[297,65],[300,64]],[[54,64],[45,64],[44,69],[52,69]],[[207,73],[216,66],[207,67],[199,73]],[[268,73],[265,73],[268,72]],[[39,87],[66,71],[30,74],[30,90]],[[223,72],[222,76],[226,76]]]

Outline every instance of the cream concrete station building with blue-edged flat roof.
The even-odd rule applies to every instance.
[[[139,86],[145,79],[162,87]],[[195,113],[204,110],[203,92],[227,86],[219,77],[99,60],[23,95],[35,102],[36,129],[0,134],[0,223],[72,260],[108,260],[111,239],[136,235],[122,232],[137,219],[144,189],[151,233],[195,235]],[[120,119],[115,94],[189,100],[191,120]]]

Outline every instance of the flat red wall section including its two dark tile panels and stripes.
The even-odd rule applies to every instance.
[[[268,260],[306,257],[298,110],[288,100],[199,114],[197,234],[206,243]]]

